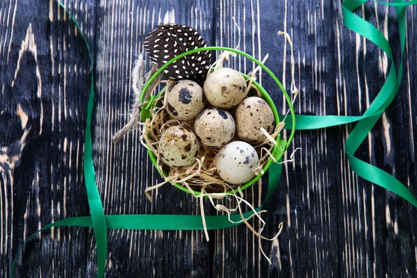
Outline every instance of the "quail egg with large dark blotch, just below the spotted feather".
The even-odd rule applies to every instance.
[[[167,112],[175,120],[190,121],[204,109],[203,89],[190,80],[167,85]]]

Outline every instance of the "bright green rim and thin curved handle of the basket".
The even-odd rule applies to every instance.
[[[265,67],[265,65],[263,65],[259,60],[257,60],[256,58],[250,56],[249,54],[246,54],[243,51],[240,51],[240,50],[237,50],[237,49],[231,49],[231,48],[228,48],[228,47],[202,47],[202,48],[199,48],[199,49],[193,49],[193,50],[184,52],[184,53],[178,55],[177,57],[174,57],[171,60],[169,60],[167,63],[165,63],[165,65],[163,65],[161,68],[159,68],[159,70],[157,72],[155,72],[155,74],[153,76],[151,76],[151,78],[147,81],[147,83],[145,84],[145,86],[144,86],[144,88],[142,90],[142,94],[140,96],[140,102],[144,102],[145,101],[145,92],[149,88],[149,85],[151,85],[152,81],[154,81],[154,79],[156,79],[156,77],[159,74],[161,74],[163,72],[163,70],[165,70],[165,68],[167,66],[171,65],[172,63],[174,63],[175,60],[179,60],[183,56],[187,56],[187,55],[194,54],[194,53],[197,53],[197,52],[211,51],[211,50],[230,51],[230,52],[234,52],[236,54],[239,54],[241,56],[244,56],[245,58],[248,58],[248,59],[252,60],[252,62],[256,63],[263,70],[265,70],[265,72],[267,72],[272,77],[272,79],[275,81],[275,83],[277,83],[279,89],[281,89],[281,92],[284,94],[284,97],[286,98],[288,107],[290,108],[291,118],[292,118],[292,126],[291,126],[291,133],[290,133],[290,136],[288,137],[288,139],[281,138],[281,133],[277,134],[277,137],[275,138],[275,140],[277,141],[277,145],[272,148],[271,154],[272,154],[272,156],[274,156],[274,158],[277,161],[279,161],[279,159],[281,159],[281,156],[284,154],[284,152],[288,149],[288,147],[290,147],[291,141],[293,140],[294,133],[295,133],[295,112],[294,112],[294,108],[293,108],[293,103],[291,101],[291,98],[288,96],[288,93],[286,92],[284,86],[277,79],[277,76],[275,76],[275,74],[273,74],[268,69],[268,67]],[[246,80],[250,78],[249,76],[247,76],[245,74],[242,74],[242,75],[243,75],[243,77]],[[281,122],[281,120],[279,119],[278,111],[277,111],[277,108],[275,107],[274,101],[272,101],[272,99],[271,99],[270,95],[268,94],[268,92],[266,92],[265,89],[262,88],[262,86],[259,85],[259,83],[257,83],[256,81],[253,81],[252,83],[256,86],[256,88],[259,90],[259,92],[261,92],[261,97],[272,108],[272,112],[274,113],[274,117],[275,117],[275,122],[277,122],[277,123],[278,122]],[[165,90],[161,90],[161,92],[159,92],[158,95],[152,95],[152,97],[150,97],[149,99],[147,99],[147,101],[148,101],[147,106],[145,106],[144,108],[142,108],[142,111],[141,111],[141,114],[140,114],[140,119],[142,121],[145,121],[147,118],[150,118],[151,117],[151,113],[149,112],[149,109],[151,109],[155,105],[154,99],[157,99],[158,97],[161,97],[161,95],[163,95],[164,92],[165,92]],[[156,169],[158,170],[158,172],[160,172],[161,176],[167,177],[167,172],[159,170],[158,165],[156,164],[156,156],[155,156],[155,154],[150,149],[148,149],[148,154],[149,154],[149,157],[151,158],[152,163],[154,163],[154,166],[156,167]],[[263,167],[263,172],[266,172],[272,163],[274,163],[274,160],[272,158],[270,158],[267,161],[267,163],[265,163],[265,165]],[[250,180],[247,183],[245,183],[242,186],[240,186],[240,189],[241,190],[245,190],[246,188],[249,188],[258,179],[261,179],[262,176],[263,176],[263,174],[257,175],[252,180]],[[182,186],[179,183],[174,183],[174,186],[177,187],[177,188],[179,188],[180,190],[183,190],[186,193],[189,193],[189,194],[193,194],[193,195],[200,195],[201,194],[201,192],[196,191],[196,190],[193,190],[193,192],[191,192],[190,190],[188,190],[188,188],[186,188],[185,186]],[[231,194],[233,192],[236,193],[237,192],[237,189],[230,190],[227,193],[230,193]]]

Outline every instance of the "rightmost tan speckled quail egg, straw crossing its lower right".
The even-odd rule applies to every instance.
[[[266,136],[261,127],[272,134],[275,129],[275,117],[272,109],[260,97],[248,97],[236,108],[236,135],[240,140],[259,144]]]

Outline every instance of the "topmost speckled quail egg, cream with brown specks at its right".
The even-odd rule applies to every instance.
[[[246,81],[237,70],[223,67],[208,75],[203,90],[213,106],[232,108],[245,98]]]

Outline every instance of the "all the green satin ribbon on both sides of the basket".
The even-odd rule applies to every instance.
[[[371,181],[383,188],[391,190],[393,193],[406,199],[408,202],[417,207],[417,200],[411,194],[406,186],[400,181],[391,176],[391,174],[380,170],[379,168],[370,165],[364,161],[354,157],[354,153],[357,151],[359,145],[365,140],[368,133],[373,128],[379,117],[384,110],[391,104],[395,95],[398,92],[400,81],[402,79],[402,57],[404,54],[405,45],[405,11],[404,6],[409,6],[417,3],[417,0],[409,2],[395,1],[395,3],[377,2],[386,5],[395,6],[395,11],[398,16],[398,27],[400,30],[400,44],[401,44],[401,63],[398,72],[395,70],[394,58],[389,42],[384,38],[384,35],[365,19],[354,15],[353,11],[359,6],[365,3],[367,0],[345,0],[343,1],[343,22],[347,28],[352,31],[363,35],[371,42],[375,43],[381,48],[391,60],[391,69],[386,78],[386,81],[379,91],[377,97],[375,97],[372,104],[370,104],[368,110],[362,116],[311,116],[311,115],[297,115],[295,120],[297,121],[297,129],[322,129],[329,126],[337,126],[341,124],[348,124],[357,122],[357,125],[352,129],[352,132],[348,136],[345,142],[345,150],[347,158],[350,162],[352,170],[368,181]],[[65,6],[60,3],[65,12],[70,15]],[[74,24],[81,33],[83,40],[88,49],[88,55],[90,56],[91,69],[92,58],[90,54],[90,48],[88,42],[83,35],[81,28],[77,24],[76,20],[70,15]],[[87,189],[88,204],[90,206],[91,216],[67,218],[51,223],[45,227],[42,227],[39,231],[32,234],[27,240],[25,240],[22,247],[19,248],[15,260],[12,266],[12,276],[14,277],[15,262],[17,256],[24,245],[36,236],[40,231],[49,229],[51,227],[63,227],[63,226],[76,226],[76,227],[92,227],[95,232],[95,240],[97,243],[97,260],[98,260],[98,272],[97,277],[104,276],[104,269],[106,263],[107,253],[107,229],[158,229],[158,230],[202,230],[202,219],[199,215],[104,215],[103,206],[97,189],[95,181],[95,170],[92,163],[92,140],[91,140],[91,118],[92,118],[92,106],[94,103],[94,82],[93,76],[90,88],[90,97],[88,99],[88,116],[87,124],[85,126],[85,153],[84,153],[84,174],[85,174],[85,187]],[[291,126],[292,119],[286,121],[286,128]],[[268,171],[269,183],[268,192],[259,208],[256,211],[260,211],[265,202],[268,201],[278,188],[279,179],[281,177],[281,164],[273,164]],[[254,212],[249,211],[244,213],[245,218],[248,218]],[[231,215],[231,220],[234,222],[239,221],[240,215]],[[234,227],[237,223],[229,222],[227,215],[206,215],[207,229],[222,229],[227,227]]]

